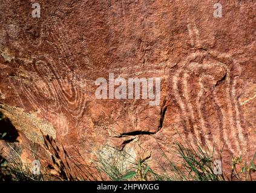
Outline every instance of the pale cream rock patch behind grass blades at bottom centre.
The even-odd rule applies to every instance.
[[[136,159],[133,151],[119,151],[108,146],[97,152],[97,169],[102,180],[159,180],[145,159]]]

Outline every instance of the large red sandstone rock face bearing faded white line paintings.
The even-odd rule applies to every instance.
[[[33,18],[31,1],[2,1],[0,110],[20,145],[44,146],[48,134],[88,162],[110,145],[157,168],[160,149],[171,157],[180,134],[194,146],[224,145],[227,165],[252,157],[256,2],[218,2],[222,18],[206,0],[41,0]],[[109,73],[161,77],[159,106],[97,100],[94,82]]]

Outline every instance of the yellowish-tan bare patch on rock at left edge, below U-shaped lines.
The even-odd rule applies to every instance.
[[[25,113],[22,108],[11,107],[5,104],[0,104],[0,111],[10,119],[19,132],[25,134],[25,136],[33,142],[38,144],[44,144],[44,135],[49,135],[53,139],[56,138],[56,131],[53,125],[39,118],[38,113],[31,112]],[[41,132],[42,131],[42,132]]]

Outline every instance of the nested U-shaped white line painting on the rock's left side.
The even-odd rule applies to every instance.
[[[39,109],[45,119],[49,115],[55,117],[54,126],[59,128],[62,136],[69,133],[68,120],[74,121],[72,127],[79,125],[86,104],[85,92],[77,84],[79,68],[66,43],[68,38],[64,28],[64,24],[56,19],[55,24],[45,30],[48,36],[44,41],[53,48],[54,54],[43,53],[29,60],[24,59],[21,66],[24,73],[18,73],[16,80],[10,81],[16,90],[21,90],[26,96],[23,106],[25,100],[33,109]],[[40,40],[39,45],[42,43]]]

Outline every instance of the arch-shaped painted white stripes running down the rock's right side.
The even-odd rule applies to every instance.
[[[186,139],[191,141],[192,145],[207,144],[209,148],[213,148],[214,144],[218,146],[223,143],[232,154],[245,154],[246,131],[241,124],[241,113],[235,90],[236,80],[232,80],[231,70],[224,63],[194,62],[198,57],[206,56],[209,56],[206,52],[192,53],[180,64],[172,77],[172,97],[180,108],[180,120]],[[225,74],[225,78],[220,77],[220,71]],[[193,76],[194,73],[199,75]],[[223,78],[221,89],[224,90],[223,96],[220,97],[216,84],[221,78]],[[199,85],[199,90],[197,96],[193,98],[190,83],[195,81]],[[208,122],[209,112],[203,111],[205,106],[203,100],[206,100],[207,89],[212,90],[212,107],[218,112],[218,118],[215,120],[218,122],[218,128]],[[207,105],[209,107],[209,104]],[[199,130],[191,128],[194,127],[191,122],[197,121],[199,121],[197,123]]]

